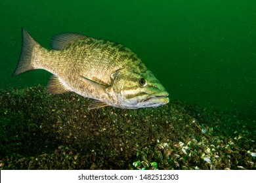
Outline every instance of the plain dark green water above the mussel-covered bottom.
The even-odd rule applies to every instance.
[[[131,48],[170,99],[256,116],[256,1],[0,0],[0,20],[0,88],[50,76],[12,76],[20,27],[46,48],[52,35],[77,32]]]

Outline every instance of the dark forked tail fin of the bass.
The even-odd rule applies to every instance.
[[[22,52],[20,54],[20,61],[14,75],[20,75],[26,71],[36,69],[33,67],[33,48],[39,44],[33,40],[28,31],[22,28]]]

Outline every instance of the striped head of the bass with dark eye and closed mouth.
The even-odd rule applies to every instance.
[[[111,80],[121,108],[159,107],[169,103],[169,93],[146,67],[119,69]]]

